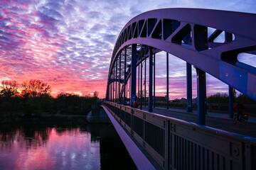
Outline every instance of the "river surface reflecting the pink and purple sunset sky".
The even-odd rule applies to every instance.
[[[0,128],[1,169],[136,169],[112,125]]]

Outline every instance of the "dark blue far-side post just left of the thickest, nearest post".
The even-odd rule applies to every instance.
[[[191,64],[186,63],[186,83],[187,83],[187,112],[192,112],[192,71]]]

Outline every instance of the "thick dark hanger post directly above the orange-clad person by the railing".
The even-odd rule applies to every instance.
[[[131,104],[134,103],[136,99],[136,71],[137,71],[137,44],[132,44],[132,62],[131,62],[131,78],[132,80],[132,85],[131,85],[131,96],[132,96],[132,101]]]

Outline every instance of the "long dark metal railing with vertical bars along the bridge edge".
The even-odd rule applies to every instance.
[[[102,103],[161,169],[256,169],[256,139]]]

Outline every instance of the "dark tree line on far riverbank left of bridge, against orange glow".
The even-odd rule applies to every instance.
[[[78,96],[77,94],[50,95],[50,85],[37,79],[30,79],[18,84],[17,81],[1,81],[1,115],[21,114],[26,116],[41,114],[87,114],[91,103],[99,100],[99,93]]]

